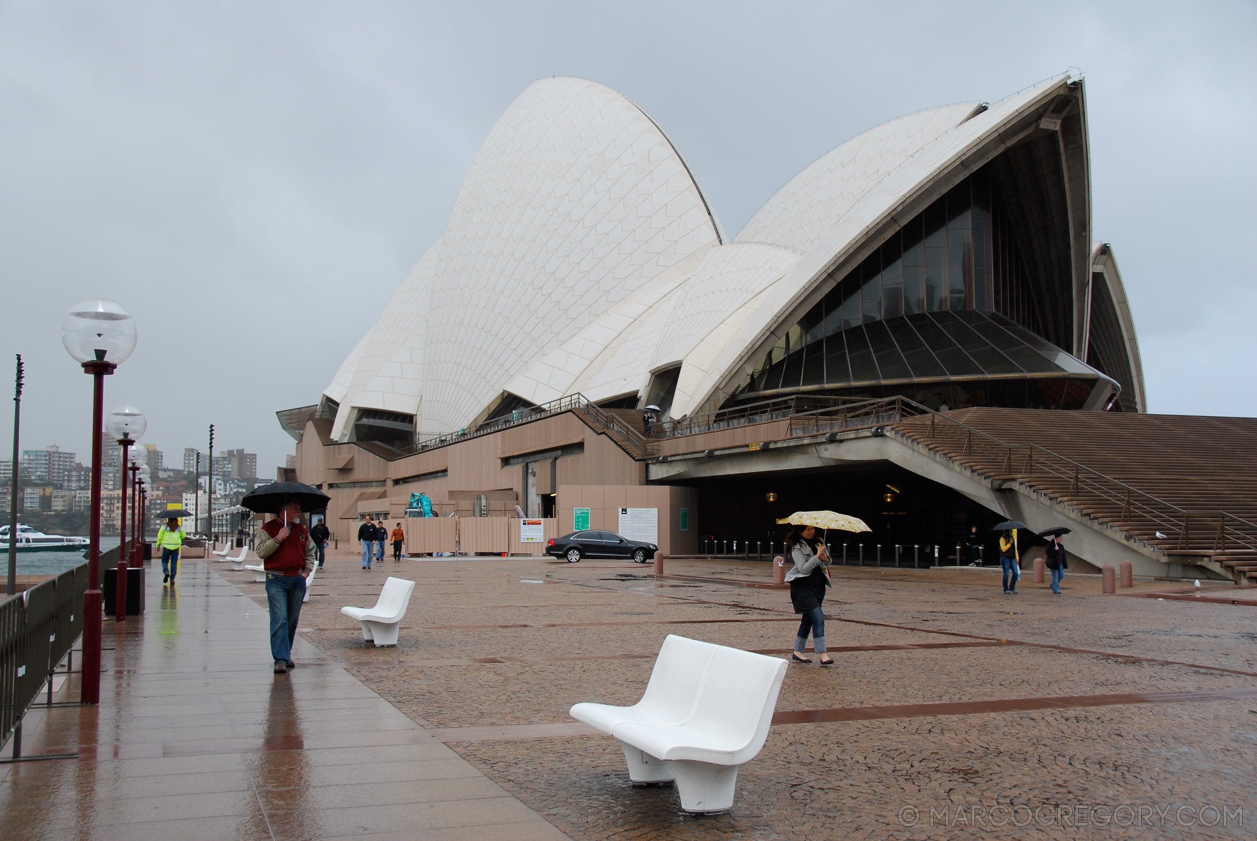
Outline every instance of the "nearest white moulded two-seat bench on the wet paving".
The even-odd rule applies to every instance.
[[[784,678],[778,657],[669,635],[637,704],[576,704],[571,715],[620,742],[635,783],[675,779],[685,811],[724,812]]]

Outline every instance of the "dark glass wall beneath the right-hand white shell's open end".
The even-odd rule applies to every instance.
[[[989,165],[978,170],[859,267],[822,282],[831,284],[825,298],[730,401],[820,391],[920,393],[952,407],[1081,406],[1101,373],[1045,338],[1038,313],[1052,302],[1035,299],[993,181]],[[987,380],[963,393],[931,385]]]

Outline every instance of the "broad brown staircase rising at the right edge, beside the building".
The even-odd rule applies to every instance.
[[[1163,563],[1257,573],[1257,419],[967,409],[887,429]]]

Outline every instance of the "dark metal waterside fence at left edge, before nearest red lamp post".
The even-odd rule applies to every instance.
[[[0,601],[0,737],[11,742],[14,762],[55,759],[78,754],[21,756],[21,719],[48,686],[52,705],[53,676],[83,632],[83,593],[87,564]]]

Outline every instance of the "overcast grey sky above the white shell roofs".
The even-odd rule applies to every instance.
[[[534,79],[645,108],[733,235],[854,135],[1071,67],[1151,410],[1257,414],[1253,3],[0,0],[0,393],[20,352],[23,446],[88,460],[60,322],[114,298],[140,343],[106,409],[273,475],[275,410],[317,401]]]

